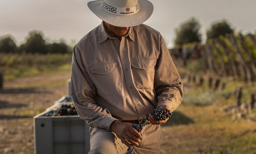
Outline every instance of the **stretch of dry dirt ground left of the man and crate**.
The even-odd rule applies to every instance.
[[[0,90],[0,154],[33,154],[33,116],[66,94],[69,72],[18,78]]]

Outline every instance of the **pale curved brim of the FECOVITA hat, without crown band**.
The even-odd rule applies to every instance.
[[[154,6],[148,0],[140,0],[140,9],[135,14],[118,15],[105,10],[102,6],[102,0],[90,1],[87,3],[89,9],[103,21],[118,27],[132,27],[140,25],[147,21],[152,15]]]

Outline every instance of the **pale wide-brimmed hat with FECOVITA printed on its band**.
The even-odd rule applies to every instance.
[[[140,25],[154,10],[148,0],[95,0],[87,5],[100,19],[118,27]]]

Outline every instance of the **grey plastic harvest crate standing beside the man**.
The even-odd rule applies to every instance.
[[[34,117],[35,154],[87,154],[90,126],[78,115],[52,115],[59,104]],[[68,102],[66,102],[68,103]]]

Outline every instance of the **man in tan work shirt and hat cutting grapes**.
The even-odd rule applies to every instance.
[[[138,133],[143,115],[159,108],[175,110],[182,84],[163,37],[142,24],[153,12],[147,0],[96,0],[90,10],[102,23],[74,47],[71,96],[90,126],[90,154],[160,153],[160,124]]]

